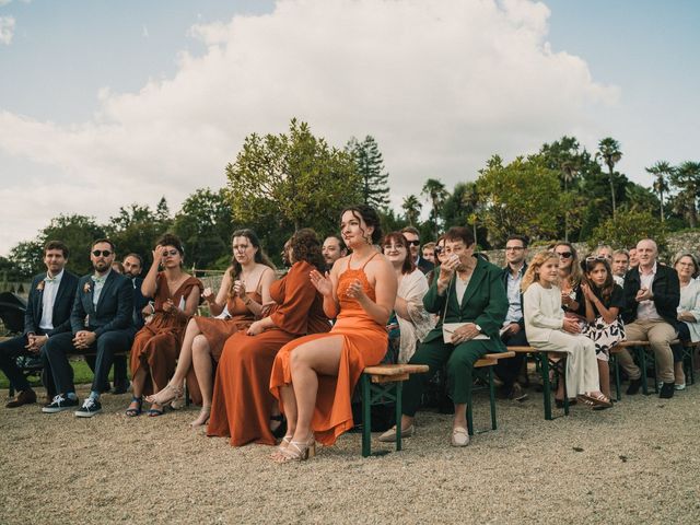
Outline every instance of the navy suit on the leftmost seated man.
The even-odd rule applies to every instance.
[[[54,300],[52,325],[54,329],[43,330],[39,328],[42,315],[44,314],[44,278],[46,273],[39,273],[32,279],[30,288],[30,298],[24,312],[24,332],[20,337],[14,337],[7,341],[0,342],[0,370],[8,376],[10,383],[18,390],[30,389],[26,377],[20,372],[16,365],[16,358],[20,355],[34,355],[25,347],[28,345],[28,335],[48,336],[49,338],[57,334],[70,331],[70,313],[75,299],[75,289],[78,287],[78,276],[63,270],[61,282],[58,285],[56,299]],[[43,377],[44,386],[46,386],[49,395],[55,394],[52,390],[52,381],[50,374]]]

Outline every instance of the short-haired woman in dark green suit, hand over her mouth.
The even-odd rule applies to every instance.
[[[428,374],[412,374],[404,386],[405,438],[415,433],[413,418],[420,408],[425,384],[447,365],[447,394],[455,407],[450,443],[469,444],[467,399],[474,363],[486,353],[505,351],[499,336],[508,312],[501,269],[474,256],[476,243],[467,228],[451,228],[444,236],[444,258],[435,280],[423,299],[425,310],[439,313],[438,326],[420,343],[411,364],[427,364]],[[396,428],[380,436],[394,441]]]

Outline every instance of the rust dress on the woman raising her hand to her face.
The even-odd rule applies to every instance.
[[[153,393],[152,383],[155,384],[155,392],[163,388],[175,373],[175,362],[189,320],[182,312],[173,314],[163,311],[163,304],[171,299],[175,306],[179,306],[187,301],[195,287],[199,288],[200,293],[205,288],[199,279],[189,277],[171,295],[165,273],[161,271],[155,276],[155,312],[151,322],[137,332],[131,345],[131,377],[141,366],[148,372],[144,395]],[[149,377],[153,381],[148,381]]]

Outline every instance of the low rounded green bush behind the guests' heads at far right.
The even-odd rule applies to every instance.
[[[666,249],[666,228],[650,211],[620,210],[612,219],[608,218],[593,231],[588,246],[594,249],[599,244],[609,244],[614,248],[625,248],[642,238],[653,238],[660,252]]]

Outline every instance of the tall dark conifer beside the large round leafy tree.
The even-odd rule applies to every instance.
[[[368,135],[358,142],[353,137],[346,145],[346,152],[354,160],[362,179],[362,201],[377,210],[386,210],[389,205],[389,174],[384,172],[384,160],[376,140]]]

